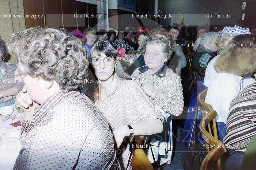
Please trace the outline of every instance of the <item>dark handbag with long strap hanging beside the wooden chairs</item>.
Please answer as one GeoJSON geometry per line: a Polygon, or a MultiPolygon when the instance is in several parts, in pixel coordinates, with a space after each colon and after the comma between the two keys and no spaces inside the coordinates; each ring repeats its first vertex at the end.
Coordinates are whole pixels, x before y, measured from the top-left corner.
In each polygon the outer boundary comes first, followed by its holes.
{"type": "Polygon", "coordinates": [[[181,165],[185,170],[200,170],[203,160],[207,155],[206,149],[195,141],[198,112],[198,105],[196,105],[193,140],[188,151],[181,158],[181,165]]]}

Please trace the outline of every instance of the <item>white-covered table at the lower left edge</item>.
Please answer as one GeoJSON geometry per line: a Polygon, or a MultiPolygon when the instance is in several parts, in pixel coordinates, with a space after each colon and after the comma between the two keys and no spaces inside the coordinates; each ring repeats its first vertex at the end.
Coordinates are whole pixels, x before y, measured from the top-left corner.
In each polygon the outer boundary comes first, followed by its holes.
{"type": "MultiPolygon", "coordinates": [[[[14,107],[14,113],[18,112],[15,109],[15,104],[11,105],[14,107]]],[[[14,166],[21,144],[19,142],[19,135],[21,126],[14,127],[10,123],[18,122],[20,118],[14,120],[8,119],[0,123],[0,169],[11,170],[14,166]]]]}

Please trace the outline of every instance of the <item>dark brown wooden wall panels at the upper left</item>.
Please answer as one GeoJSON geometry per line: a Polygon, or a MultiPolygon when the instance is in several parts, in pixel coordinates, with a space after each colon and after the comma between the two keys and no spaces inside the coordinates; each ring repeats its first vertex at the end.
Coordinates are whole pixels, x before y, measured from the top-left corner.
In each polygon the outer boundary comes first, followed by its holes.
{"type": "Polygon", "coordinates": [[[23,0],[25,15],[37,16],[25,18],[26,28],[35,26],[41,27],[64,27],[68,31],[94,27],[97,29],[97,17],[87,18],[84,14],[97,15],[97,5],[83,3],[71,0],[23,0]],[[83,17],[76,17],[74,14],[80,14],[83,17]],[[43,17],[39,18],[38,15],[43,17]]]}

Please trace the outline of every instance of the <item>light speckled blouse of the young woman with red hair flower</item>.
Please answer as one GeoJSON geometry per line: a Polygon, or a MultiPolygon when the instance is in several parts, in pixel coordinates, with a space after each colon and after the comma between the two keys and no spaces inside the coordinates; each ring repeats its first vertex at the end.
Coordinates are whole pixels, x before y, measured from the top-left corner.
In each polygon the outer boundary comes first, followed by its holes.
{"type": "MultiPolygon", "coordinates": [[[[112,130],[124,124],[134,124],[146,119],[163,121],[161,112],[155,109],[146,94],[133,80],[120,80],[114,76],[102,102],[98,105],[96,92],[92,100],[102,111],[112,130]]],[[[116,153],[122,169],[126,169],[131,153],[129,144],[122,144],[116,153]]]]}

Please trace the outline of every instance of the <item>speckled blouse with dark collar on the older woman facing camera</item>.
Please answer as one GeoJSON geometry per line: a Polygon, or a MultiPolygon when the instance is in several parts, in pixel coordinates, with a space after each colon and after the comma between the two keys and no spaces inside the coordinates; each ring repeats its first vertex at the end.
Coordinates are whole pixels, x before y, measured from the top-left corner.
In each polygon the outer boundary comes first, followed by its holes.
{"type": "Polygon", "coordinates": [[[163,111],[169,112],[174,116],[181,114],[184,106],[181,78],[177,76],[166,64],[163,65],[155,74],[146,78],[147,66],[137,68],[132,74],[139,86],[142,83],[150,82],[155,88],[155,99],[150,96],[147,98],[163,111]]]}

